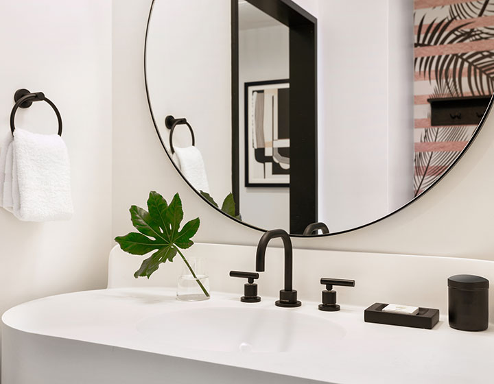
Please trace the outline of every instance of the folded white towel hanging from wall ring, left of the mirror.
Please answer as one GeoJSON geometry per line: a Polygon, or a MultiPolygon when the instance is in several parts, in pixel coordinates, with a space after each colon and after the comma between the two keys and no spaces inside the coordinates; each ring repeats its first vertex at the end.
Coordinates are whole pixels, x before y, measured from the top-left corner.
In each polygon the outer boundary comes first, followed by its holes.
{"type": "Polygon", "coordinates": [[[69,154],[58,134],[14,131],[5,160],[3,207],[23,221],[71,218],[69,154]]]}

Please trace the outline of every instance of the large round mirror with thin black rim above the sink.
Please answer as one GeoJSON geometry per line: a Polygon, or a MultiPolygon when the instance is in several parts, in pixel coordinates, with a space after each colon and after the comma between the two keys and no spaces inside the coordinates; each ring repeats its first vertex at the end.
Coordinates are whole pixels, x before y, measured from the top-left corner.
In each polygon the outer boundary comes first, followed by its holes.
{"type": "Polygon", "coordinates": [[[145,82],[158,139],[205,202],[251,228],[372,224],[436,184],[478,133],[493,16],[492,1],[154,0],[145,82]]]}

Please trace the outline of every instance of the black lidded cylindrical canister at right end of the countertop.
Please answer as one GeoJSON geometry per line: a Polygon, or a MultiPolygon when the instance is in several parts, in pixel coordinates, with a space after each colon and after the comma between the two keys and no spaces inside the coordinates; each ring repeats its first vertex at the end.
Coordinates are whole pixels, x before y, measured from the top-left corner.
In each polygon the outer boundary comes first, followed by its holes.
{"type": "Polygon", "coordinates": [[[449,326],[484,331],[489,326],[489,280],[481,276],[448,278],[449,326]]]}

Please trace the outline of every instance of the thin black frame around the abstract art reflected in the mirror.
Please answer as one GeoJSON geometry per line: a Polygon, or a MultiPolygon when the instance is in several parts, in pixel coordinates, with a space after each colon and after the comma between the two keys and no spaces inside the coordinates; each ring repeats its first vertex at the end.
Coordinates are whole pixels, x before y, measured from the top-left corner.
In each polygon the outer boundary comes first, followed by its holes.
{"type": "Polygon", "coordinates": [[[246,82],[244,83],[244,169],[245,169],[245,187],[268,187],[268,188],[288,188],[290,187],[289,182],[250,182],[250,139],[249,139],[249,130],[250,130],[250,121],[248,114],[248,103],[250,100],[250,88],[258,87],[258,86],[270,86],[274,84],[288,84],[290,88],[290,80],[289,79],[281,79],[281,80],[263,80],[259,82],[246,82]]]}

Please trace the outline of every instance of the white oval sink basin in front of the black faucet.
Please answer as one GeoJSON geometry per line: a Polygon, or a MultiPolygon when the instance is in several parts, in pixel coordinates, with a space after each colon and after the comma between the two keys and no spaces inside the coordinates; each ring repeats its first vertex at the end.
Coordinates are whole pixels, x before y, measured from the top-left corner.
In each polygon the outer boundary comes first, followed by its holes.
{"type": "Polygon", "coordinates": [[[293,310],[201,308],[161,313],[137,324],[154,342],[216,352],[303,352],[325,350],[344,328],[293,310]]]}

